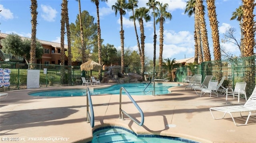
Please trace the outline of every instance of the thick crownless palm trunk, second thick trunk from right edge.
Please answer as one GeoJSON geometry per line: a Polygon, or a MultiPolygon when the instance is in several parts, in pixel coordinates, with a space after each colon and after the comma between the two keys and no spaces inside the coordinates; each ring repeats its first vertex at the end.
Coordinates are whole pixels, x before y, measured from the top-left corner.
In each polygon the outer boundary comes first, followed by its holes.
{"type": "Polygon", "coordinates": [[[220,36],[219,36],[219,30],[218,30],[216,6],[214,4],[215,0],[206,0],[206,2],[207,2],[207,9],[208,9],[208,17],[209,17],[210,26],[212,29],[214,61],[218,61],[218,60],[221,60],[221,53],[220,53],[220,36]]]}

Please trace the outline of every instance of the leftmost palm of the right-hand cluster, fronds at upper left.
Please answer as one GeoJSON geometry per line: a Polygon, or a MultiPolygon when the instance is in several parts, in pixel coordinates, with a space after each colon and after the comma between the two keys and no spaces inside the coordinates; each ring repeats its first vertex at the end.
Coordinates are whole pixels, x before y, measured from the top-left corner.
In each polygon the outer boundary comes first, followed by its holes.
{"type": "MultiPolygon", "coordinates": [[[[185,14],[188,13],[188,17],[191,17],[196,12],[196,0],[189,0],[186,3],[185,14]]],[[[202,46],[201,46],[201,38],[200,38],[200,29],[198,28],[198,15],[195,14],[195,31],[194,31],[194,40],[195,40],[195,59],[194,63],[198,64],[198,57],[200,63],[203,62],[203,53],[202,53],[202,46]]]]}

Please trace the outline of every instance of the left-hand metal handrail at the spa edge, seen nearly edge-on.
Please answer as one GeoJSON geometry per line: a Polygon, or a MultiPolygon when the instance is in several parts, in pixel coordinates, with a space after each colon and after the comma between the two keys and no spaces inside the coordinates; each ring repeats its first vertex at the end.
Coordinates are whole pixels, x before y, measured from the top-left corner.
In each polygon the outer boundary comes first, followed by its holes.
{"type": "Polygon", "coordinates": [[[94,111],[93,111],[93,106],[92,106],[92,98],[91,98],[91,92],[89,88],[86,89],[86,99],[87,99],[87,105],[86,105],[86,118],[87,118],[87,123],[90,123],[91,127],[94,127],[94,111]],[[89,112],[89,106],[90,106],[90,112],[92,116],[90,116],[89,112]]]}

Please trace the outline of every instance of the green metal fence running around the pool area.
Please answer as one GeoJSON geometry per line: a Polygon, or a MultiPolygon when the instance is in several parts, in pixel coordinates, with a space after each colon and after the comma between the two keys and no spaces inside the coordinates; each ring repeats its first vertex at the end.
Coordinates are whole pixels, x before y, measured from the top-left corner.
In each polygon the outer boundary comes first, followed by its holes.
{"type": "MultiPolygon", "coordinates": [[[[236,82],[246,82],[246,92],[249,96],[256,83],[255,56],[230,60],[208,61],[200,65],[178,66],[170,71],[167,67],[145,67],[143,79],[163,79],[182,82],[182,78],[194,74],[213,75],[214,80],[226,76],[225,87],[234,88],[236,82]],[[173,78],[171,78],[173,76],[173,78]]],[[[81,76],[89,76],[80,70],[80,66],[44,65],[0,61],[0,68],[10,69],[10,86],[0,88],[0,92],[27,88],[27,71],[30,68],[40,70],[40,87],[73,86],[81,84],[81,76]],[[80,83],[79,83],[80,82],[80,83]]],[[[125,67],[125,72],[140,73],[141,67],[125,67]]],[[[87,77],[90,78],[90,77],[87,77]]]]}

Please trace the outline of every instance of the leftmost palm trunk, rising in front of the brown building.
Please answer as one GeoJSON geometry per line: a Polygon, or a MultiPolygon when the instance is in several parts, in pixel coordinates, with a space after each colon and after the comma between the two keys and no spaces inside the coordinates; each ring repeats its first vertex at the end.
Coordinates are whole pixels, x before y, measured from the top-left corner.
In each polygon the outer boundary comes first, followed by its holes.
{"type": "Polygon", "coordinates": [[[36,63],[36,24],[37,24],[37,0],[31,0],[31,49],[30,49],[30,63],[32,63],[32,66],[30,67],[33,69],[34,65],[36,63]]]}

